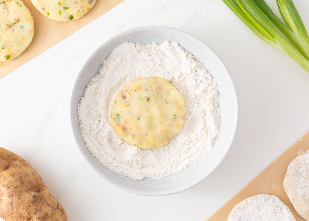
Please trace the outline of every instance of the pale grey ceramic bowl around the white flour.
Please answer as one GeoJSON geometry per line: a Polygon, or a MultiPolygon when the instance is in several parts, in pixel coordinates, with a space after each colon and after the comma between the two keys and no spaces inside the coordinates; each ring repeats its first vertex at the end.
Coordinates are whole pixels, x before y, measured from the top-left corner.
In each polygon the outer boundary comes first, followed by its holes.
{"type": "Polygon", "coordinates": [[[218,55],[200,39],[177,29],[161,26],[145,26],[132,28],[104,42],[86,61],[79,73],[71,100],[71,121],[79,149],[87,161],[110,184],[130,193],[146,196],[162,196],[179,193],[200,183],[209,176],[222,162],[231,147],[238,121],[238,99],[235,85],[229,71],[218,55]],[[214,148],[206,156],[178,173],[172,173],[163,179],[145,178],[142,181],[132,180],[119,175],[99,163],[99,160],[88,151],[79,129],[77,106],[88,82],[99,73],[99,68],[108,55],[122,42],[132,41],[151,44],[154,41],[178,42],[199,60],[217,81],[219,91],[220,132],[214,148]],[[175,179],[171,179],[171,177],[175,179]]]}

